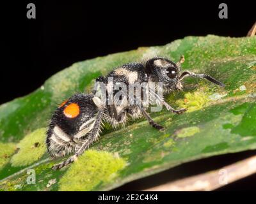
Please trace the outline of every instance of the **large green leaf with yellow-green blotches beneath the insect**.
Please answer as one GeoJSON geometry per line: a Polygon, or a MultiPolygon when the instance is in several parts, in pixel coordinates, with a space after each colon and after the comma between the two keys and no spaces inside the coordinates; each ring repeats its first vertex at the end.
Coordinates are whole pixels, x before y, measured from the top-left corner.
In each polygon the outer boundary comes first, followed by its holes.
{"type": "Polygon", "coordinates": [[[0,188],[108,190],[195,159],[256,149],[255,76],[256,37],[189,36],[161,47],[77,62],[35,92],[0,106],[0,188]],[[154,54],[175,62],[184,55],[183,69],[207,73],[226,87],[188,78],[184,91],[166,96],[168,103],[186,107],[188,112],[173,115],[163,108],[150,113],[165,127],[164,132],[149,126],[145,119],[118,130],[106,125],[100,140],[76,163],[51,170],[60,159],[49,160],[44,132],[56,106],[76,92],[89,92],[95,78],[116,66],[154,54]]]}

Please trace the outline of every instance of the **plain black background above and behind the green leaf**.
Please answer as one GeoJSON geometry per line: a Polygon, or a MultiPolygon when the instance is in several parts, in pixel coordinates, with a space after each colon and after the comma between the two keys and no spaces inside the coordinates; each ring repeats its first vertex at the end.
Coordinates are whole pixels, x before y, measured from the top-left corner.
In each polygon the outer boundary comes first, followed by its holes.
{"type": "MultiPolygon", "coordinates": [[[[223,2],[1,3],[0,103],[29,94],[51,75],[77,61],[165,45],[189,35],[246,36],[256,20],[253,1],[225,1],[228,19],[218,17],[220,3],[223,2]],[[36,19],[26,18],[28,3],[35,3],[36,19]]],[[[255,189],[253,178],[245,180],[244,186],[240,183],[229,189],[255,189]]]]}

